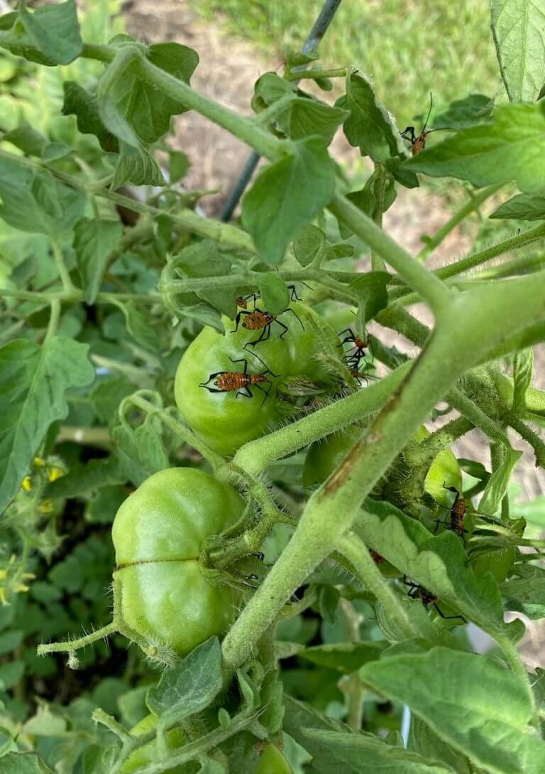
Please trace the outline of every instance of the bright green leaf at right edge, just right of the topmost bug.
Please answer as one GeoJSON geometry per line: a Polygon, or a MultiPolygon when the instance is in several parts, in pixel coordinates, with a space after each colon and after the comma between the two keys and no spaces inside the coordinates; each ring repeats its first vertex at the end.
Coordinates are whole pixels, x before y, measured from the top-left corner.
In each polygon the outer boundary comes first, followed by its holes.
{"type": "Polygon", "coordinates": [[[520,190],[539,190],[545,177],[545,104],[499,105],[492,122],[462,129],[404,166],[476,187],[515,180],[520,190]]]}

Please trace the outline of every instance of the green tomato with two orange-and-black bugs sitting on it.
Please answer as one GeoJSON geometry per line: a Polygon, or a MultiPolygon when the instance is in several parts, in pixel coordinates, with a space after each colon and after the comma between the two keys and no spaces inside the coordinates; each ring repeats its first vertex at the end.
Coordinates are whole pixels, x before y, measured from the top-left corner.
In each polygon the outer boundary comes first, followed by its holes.
{"type": "MultiPolygon", "coordinates": [[[[292,303],[290,308],[301,320],[304,330],[295,316],[286,312],[281,315],[281,321],[288,325],[283,338],[280,337],[281,327],[273,322],[267,341],[244,348],[245,344],[255,341],[262,331],[246,330],[241,320],[237,332],[230,332],[235,324],[224,317],[227,333],[222,336],[211,327],[203,328],[180,361],[174,386],[176,404],[192,430],[219,454],[233,454],[247,441],[278,425],[281,416],[276,404],[276,390],[281,378],[301,375],[315,382],[331,381],[333,378],[315,359],[316,354],[324,350],[316,330],[318,324],[319,330],[324,330],[322,320],[303,303],[292,303]],[[278,378],[267,375],[269,382],[259,385],[261,389],[270,389],[268,397],[255,385],[249,387],[251,398],[244,396],[242,390],[209,392],[206,387],[200,386],[208,382],[211,389],[217,389],[210,380],[211,375],[218,372],[241,373],[244,371],[242,360],[247,362],[247,373],[250,375],[263,374],[267,369],[278,375],[278,378]]],[[[339,345],[339,338],[329,327],[322,335],[326,339],[326,348],[339,345]]]]}

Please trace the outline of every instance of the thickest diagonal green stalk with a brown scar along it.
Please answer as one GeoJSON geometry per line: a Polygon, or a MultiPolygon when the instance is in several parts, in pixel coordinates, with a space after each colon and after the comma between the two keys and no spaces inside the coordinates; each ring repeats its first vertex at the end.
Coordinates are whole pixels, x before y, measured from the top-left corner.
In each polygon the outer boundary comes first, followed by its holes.
{"type": "MultiPolygon", "coordinates": [[[[290,543],[227,634],[223,655],[228,664],[237,666],[247,659],[254,642],[350,528],[363,499],[456,379],[511,327],[545,317],[545,272],[510,285],[509,314],[505,313],[504,290],[495,286],[455,296],[442,311],[404,382],[376,416],[366,437],[309,499],[290,543]],[[497,309],[504,310],[502,317],[494,313],[497,309]],[[465,341],[472,341],[471,351],[465,341]]],[[[243,447],[245,456],[250,456],[255,443],[243,447]]],[[[268,454],[271,452],[269,449],[268,454]]]]}

